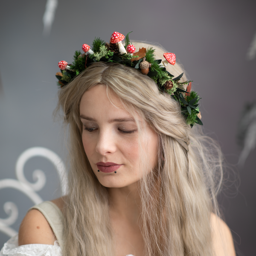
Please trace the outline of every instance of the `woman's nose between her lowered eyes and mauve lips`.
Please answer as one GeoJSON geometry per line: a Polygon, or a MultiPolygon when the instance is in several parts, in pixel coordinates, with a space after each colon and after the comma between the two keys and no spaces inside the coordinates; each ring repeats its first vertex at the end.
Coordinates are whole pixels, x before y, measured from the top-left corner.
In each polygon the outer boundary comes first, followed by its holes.
{"type": "Polygon", "coordinates": [[[101,155],[116,152],[116,138],[110,129],[99,131],[95,150],[101,155]]]}

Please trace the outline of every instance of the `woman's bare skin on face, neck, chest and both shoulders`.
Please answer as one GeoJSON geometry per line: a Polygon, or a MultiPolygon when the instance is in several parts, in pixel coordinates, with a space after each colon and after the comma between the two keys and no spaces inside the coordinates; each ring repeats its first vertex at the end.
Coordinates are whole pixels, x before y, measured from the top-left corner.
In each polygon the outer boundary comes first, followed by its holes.
{"type": "MultiPolygon", "coordinates": [[[[84,151],[99,182],[108,187],[116,255],[142,256],[144,245],[137,224],[140,215],[137,186],[143,173],[139,166],[137,126],[132,120],[113,121],[113,119],[132,119],[133,117],[122,108],[121,102],[115,95],[109,92],[109,97],[111,101],[107,96],[105,85],[96,85],[82,96],[80,115],[83,123],[84,151]],[[116,173],[103,173],[97,171],[96,163],[98,162],[113,162],[122,166],[116,170],[116,173]]],[[[149,126],[143,130],[143,134],[145,134],[143,149],[149,156],[150,165],[154,167],[157,164],[158,137],[149,126]]],[[[61,198],[53,202],[60,209],[63,208],[61,198]]],[[[232,235],[224,221],[212,214],[211,223],[216,255],[236,255],[232,235]]],[[[35,209],[29,211],[20,225],[19,245],[53,244],[55,240],[41,212],[35,209]]]]}

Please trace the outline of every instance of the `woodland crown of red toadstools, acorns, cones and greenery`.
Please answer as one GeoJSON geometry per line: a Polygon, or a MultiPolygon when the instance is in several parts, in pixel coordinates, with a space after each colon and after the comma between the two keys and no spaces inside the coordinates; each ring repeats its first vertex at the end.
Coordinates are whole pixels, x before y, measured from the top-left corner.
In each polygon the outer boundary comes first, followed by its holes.
{"type": "Polygon", "coordinates": [[[76,76],[83,72],[93,62],[117,62],[128,67],[140,70],[143,74],[151,77],[162,93],[168,93],[180,103],[181,112],[191,127],[194,124],[203,125],[201,114],[198,108],[199,96],[191,90],[192,81],[180,82],[183,73],[174,77],[166,70],[168,64],[174,65],[176,56],[174,53],[166,52],[163,54],[164,61],[155,59],[153,47],[148,49],[140,48],[137,52],[129,40],[129,32],[126,37],[118,32],[113,32],[110,43],[106,43],[100,38],[95,38],[92,49],[87,44],[83,44],[82,54],[76,51],[72,64],[67,61],[60,61],[58,67],[61,72],[56,73],[60,87],[65,86],[76,76]],[[122,41],[125,39],[125,46],[122,41]],[[183,85],[187,85],[186,90],[183,85]]]}

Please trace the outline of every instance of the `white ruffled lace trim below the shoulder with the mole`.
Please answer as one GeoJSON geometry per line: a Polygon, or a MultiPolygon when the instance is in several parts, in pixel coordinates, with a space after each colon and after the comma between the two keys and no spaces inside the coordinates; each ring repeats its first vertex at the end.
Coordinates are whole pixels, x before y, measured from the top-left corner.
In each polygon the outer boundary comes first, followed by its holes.
{"type": "Polygon", "coordinates": [[[18,246],[18,235],[9,239],[0,251],[0,256],[62,256],[61,247],[55,241],[50,244],[25,244],[18,246]]]}

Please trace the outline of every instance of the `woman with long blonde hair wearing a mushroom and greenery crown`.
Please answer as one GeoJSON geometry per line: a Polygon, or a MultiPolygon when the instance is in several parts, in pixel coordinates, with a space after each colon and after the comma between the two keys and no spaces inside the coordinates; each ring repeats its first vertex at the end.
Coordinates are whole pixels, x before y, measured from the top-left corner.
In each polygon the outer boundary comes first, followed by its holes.
{"type": "Polygon", "coordinates": [[[0,255],[235,255],[218,218],[221,152],[198,125],[191,128],[201,122],[199,98],[189,99],[191,83],[171,65],[175,56],[160,63],[153,59],[163,58],[160,47],[137,43],[147,52],[129,57],[117,43],[97,42],[92,52],[76,52],[70,67],[59,64],[68,195],[31,209],[19,247],[15,238],[0,255]]]}

